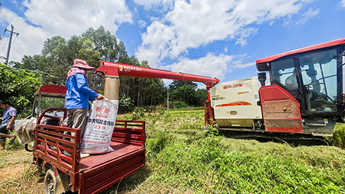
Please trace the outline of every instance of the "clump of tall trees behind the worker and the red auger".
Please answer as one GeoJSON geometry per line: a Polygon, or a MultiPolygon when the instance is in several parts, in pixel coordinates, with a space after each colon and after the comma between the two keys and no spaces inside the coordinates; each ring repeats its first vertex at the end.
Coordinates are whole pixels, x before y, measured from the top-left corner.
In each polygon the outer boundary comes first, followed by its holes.
{"type": "MultiPolygon", "coordinates": [[[[67,72],[75,59],[83,59],[90,66],[98,68],[101,60],[149,68],[148,61],[139,61],[129,56],[122,41],[100,26],[97,30],[88,28],[81,36],[66,40],[61,36],[51,37],[43,43],[40,55],[23,56],[15,68],[35,70],[41,73],[44,84],[64,85],[67,72]]],[[[92,71],[87,72],[89,87],[103,90],[103,80],[92,71]]],[[[141,77],[120,77],[119,95],[126,95],[136,106],[150,106],[165,101],[166,88],[161,79],[141,77]]]]}

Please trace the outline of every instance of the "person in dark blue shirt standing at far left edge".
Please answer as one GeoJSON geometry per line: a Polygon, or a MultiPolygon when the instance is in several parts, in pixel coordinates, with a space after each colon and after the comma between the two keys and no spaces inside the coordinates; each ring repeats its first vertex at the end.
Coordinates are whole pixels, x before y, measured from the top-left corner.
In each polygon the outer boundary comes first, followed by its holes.
{"type": "Polygon", "coordinates": [[[15,135],[8,135],[8,132],[11,128],[14,128],[14,120],[17,117],[17,110],[11,106],[11,103],[8,100],[0,101],[0,106],[5,110],[5,112],[3,112],[3,117],[0,118],[0,120],[2,120],[0,126],[0,150],[4,150],[6,137],[10,139],[9,145],[13,144],[14,139],[16,139],[15,135]]]}

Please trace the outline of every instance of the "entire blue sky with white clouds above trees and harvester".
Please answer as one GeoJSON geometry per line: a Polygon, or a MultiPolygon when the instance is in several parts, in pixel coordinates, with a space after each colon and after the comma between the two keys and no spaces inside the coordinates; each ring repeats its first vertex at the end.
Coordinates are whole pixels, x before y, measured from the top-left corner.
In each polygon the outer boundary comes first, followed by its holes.
{"type": "MultiPolygon", "coordinates": [[[[0,2],[0,32],[10,24],[20,32],[13,61],[39,54],[47,38],[104,26],[152,68],[225,82],[256,76],[257,59],[345,37],[345,0],[0,2]]],[[[1,33],[0,56],[6,57],[9,34],[1,33]]]]}

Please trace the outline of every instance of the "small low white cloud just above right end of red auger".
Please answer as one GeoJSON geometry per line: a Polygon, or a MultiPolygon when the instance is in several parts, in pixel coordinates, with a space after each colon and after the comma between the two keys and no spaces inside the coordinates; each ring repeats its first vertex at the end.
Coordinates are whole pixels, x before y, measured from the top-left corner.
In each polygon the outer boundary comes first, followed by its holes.
{"type": "Polygon", "coordinates": [[[217,77],[218,79],[224,79],[224,76],[228,72],[232,72],[235,68],[246,68],[248,66],[255,65],[255,62],[242,64],[243,56],[232,56],[208,52],[206,57],[199,59],[188,59],[186,57],[180,57],[178,62],[169,66],[164,66],[175,72],[186,72],[194,75],[204,75],[208,77],[217,77]]]}

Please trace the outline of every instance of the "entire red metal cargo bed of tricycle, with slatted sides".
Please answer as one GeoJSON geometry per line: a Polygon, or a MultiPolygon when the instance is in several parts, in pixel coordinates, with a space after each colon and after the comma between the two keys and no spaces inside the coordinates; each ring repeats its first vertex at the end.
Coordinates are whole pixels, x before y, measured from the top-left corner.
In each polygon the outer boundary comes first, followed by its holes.
{"type": "Polygon", "coordinates": [[[55,193],[99,193],[144,167],[144,121],[116,121],[110,143],[115,151],[80,159],[80,129],[41,124],[43,117],[59,119],[46,114],[51,110],[63,111],[62,119],[66,118],[64,108],[43,111],[34,133],[34,162],[39,168],[52,168],[55,193]]]}

